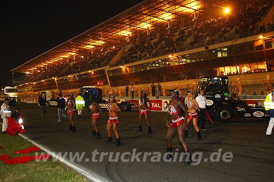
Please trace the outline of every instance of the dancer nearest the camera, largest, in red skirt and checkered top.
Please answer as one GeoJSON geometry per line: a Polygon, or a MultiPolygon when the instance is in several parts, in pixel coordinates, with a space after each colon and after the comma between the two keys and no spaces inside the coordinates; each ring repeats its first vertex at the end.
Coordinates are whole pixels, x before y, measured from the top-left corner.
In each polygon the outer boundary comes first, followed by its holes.
{"type": "Polygon", "coordinates": [[[166,159],[172,159],[172,143],[171,140],[177,131],[177,138],[179,144],[183,147],[184,152],[186,154],[185,162],[182,163],[183,166],[189,165],[192,163],[191,154],[187,147],[187,144],[184,140],[184,130],[186,129],[186,118],[188,116],[186,107],[178,100],[179,92],[177,90],[170,89],[170,97],[172,99],[168,104],[168,113],[165,121],[166,127],[168,127],[166,132],[166,147],[167,147],[167,155],[166,159]],[[185,118],[181,115],[180,109],[184,111],[185,118]],[[172,121],[169,121],[171,117],[172,121]]]}

